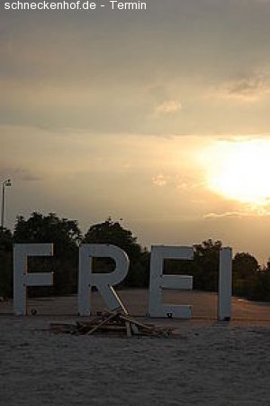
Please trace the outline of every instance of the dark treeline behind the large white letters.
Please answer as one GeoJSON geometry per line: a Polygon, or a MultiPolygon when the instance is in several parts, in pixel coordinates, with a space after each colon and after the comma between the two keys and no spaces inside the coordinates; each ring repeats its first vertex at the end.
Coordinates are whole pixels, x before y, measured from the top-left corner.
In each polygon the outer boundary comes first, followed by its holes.
{"type": "MultiPolygon", "coordinates": [[[[76,220],[59,218],[54,213],[44,216],[34,212],[25,219],[17,217],[14,233],[0,229],[0,296],[13,295],[13,244],[53,243],[53,257],[29,258],[30,272],[54,272],[52,287],[29,288],[30,295],[63,295],[76,293],[78,247],[81,243],[112,244],[121,247],[130,258],[130,271],[121,287],[146,288],[149,279],[150,253],[139,245],[137,237],[119,222],[106,219],[90,226],[82,235],[76,220]]],[[[193,275],[193,288],[217,291],[220,241],[211,239],[193,245],[193,261],[165,261],[165,272],[193,275]]],[[[94,272],[112,272],[110,258],[94,258],[94,272]]],[[[260,267],[257,259],[248,253],[238,253],[232,262],[233,294],[250,300],[270,301],[270,262],[260,267]]]]}

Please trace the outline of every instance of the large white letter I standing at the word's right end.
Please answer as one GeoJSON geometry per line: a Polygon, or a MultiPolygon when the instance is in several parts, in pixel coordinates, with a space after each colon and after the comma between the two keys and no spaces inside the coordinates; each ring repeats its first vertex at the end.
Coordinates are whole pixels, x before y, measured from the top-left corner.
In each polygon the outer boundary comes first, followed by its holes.
{"type": "Polygon", "coordinates": [[[230,319],[231,256],[231,248],[220,249],[218,318],[224,321],[229,321],[230,319]]]}

